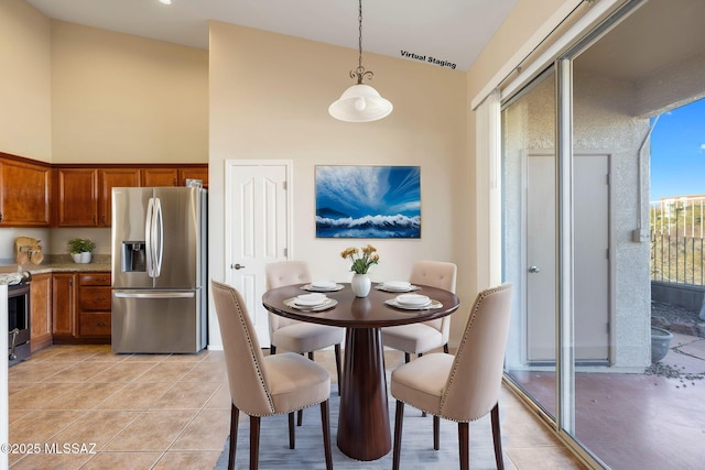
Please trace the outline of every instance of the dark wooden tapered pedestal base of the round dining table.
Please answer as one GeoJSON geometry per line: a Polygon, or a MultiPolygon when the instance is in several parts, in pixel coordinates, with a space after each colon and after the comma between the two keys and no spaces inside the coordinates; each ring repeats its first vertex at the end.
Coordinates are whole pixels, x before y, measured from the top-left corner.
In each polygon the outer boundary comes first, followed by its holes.
{"type": "Polygon", "coordinates": [[[392,446],[383,353],[379,328],[347,328],[338,448],[357,460],[384,457],[392,446]]]}

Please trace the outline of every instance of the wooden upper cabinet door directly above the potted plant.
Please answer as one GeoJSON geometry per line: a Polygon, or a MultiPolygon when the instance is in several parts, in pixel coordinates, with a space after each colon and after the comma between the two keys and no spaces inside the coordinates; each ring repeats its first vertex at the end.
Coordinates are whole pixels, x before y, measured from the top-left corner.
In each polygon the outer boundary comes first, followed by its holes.
{"type": "Polygon", "coordinates": [[[99,227],[98,170],[55,168],[56,225],[59,227],[99,227]]]}

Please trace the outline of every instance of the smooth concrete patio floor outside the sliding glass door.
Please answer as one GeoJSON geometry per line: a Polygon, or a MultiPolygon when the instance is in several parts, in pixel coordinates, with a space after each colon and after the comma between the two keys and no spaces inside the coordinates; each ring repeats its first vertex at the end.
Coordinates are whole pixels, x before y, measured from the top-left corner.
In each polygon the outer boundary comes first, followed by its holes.
{"type": "MultiPolygon", "coordinates": [[[[673,335],[659,374],[576,373],[575,435],[612,469],[704,468],[705,339],[673,335]]],[[[555,374],[512,376],[555,415],[555,374]]]]}

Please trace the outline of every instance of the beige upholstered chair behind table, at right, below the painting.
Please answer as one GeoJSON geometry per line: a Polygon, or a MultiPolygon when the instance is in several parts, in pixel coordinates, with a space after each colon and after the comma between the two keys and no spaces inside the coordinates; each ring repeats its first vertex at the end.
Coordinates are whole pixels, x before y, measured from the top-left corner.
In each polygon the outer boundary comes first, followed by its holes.
{"type": "MultiPolygon", "coordinates": [[[[411,270],[409,281],[412,284],[430,285],[455,293],[457,266],[442,261],[416,261],[411,270]]],[[[451,335],[451,316],[436,320],[412,325],[400,325],[382,328],[382,343],[404,352],[404,362],[411,354],[423,356],[424,352],[443,347],[448,352],[451,335]]]]}

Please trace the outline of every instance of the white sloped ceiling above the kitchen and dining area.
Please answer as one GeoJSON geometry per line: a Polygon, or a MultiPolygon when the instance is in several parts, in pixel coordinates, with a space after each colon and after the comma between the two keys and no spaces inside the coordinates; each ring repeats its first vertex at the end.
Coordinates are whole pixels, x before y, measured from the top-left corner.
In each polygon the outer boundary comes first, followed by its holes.
{"type": "MultiPolygon", "coordinates": [[[[45,15],[208,48],[208,20],[358,47],[355,0],[26,0],[45,15]]],[[[366,0],[362,51],[401,51],[467,70],[518,0],[366,0]]]]}

